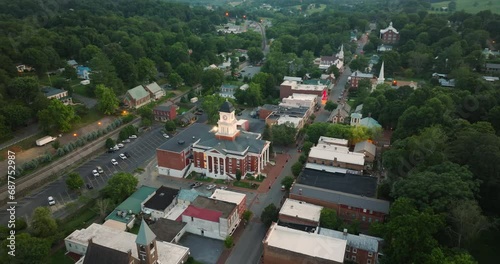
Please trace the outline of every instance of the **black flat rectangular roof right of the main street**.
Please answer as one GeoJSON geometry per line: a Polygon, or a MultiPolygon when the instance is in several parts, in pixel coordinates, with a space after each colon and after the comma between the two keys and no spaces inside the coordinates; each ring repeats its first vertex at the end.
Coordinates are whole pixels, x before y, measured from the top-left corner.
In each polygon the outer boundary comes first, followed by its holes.
{"type": "Polygon", "coordinates": [[[332,173],[305,168],[297,183],[332,191],[375,197],[377,178],[345,173],[332,173]]]}

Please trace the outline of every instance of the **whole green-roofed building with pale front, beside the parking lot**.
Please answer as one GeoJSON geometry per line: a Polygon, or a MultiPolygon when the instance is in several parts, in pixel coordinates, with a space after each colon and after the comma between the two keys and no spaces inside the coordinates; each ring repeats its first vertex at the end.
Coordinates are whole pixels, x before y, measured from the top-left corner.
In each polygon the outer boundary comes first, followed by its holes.
{"type": "Polygon", "coordinates": [[[125,201],[118,205],[107,217],[106,221],[112,220],[124,224],[126,228],[132,228],[135,224],[135,216],[142,212],[142,203],[152,194],[156,188],[141,186],[130,195],[125,201]]]}

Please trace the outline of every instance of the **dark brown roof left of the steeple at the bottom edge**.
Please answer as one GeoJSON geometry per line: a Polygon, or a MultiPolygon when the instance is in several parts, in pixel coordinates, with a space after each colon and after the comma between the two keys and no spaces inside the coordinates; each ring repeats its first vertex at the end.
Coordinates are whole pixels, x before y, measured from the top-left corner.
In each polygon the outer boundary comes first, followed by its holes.
{"type": "MultiPolygon", "coordinates": [[[[132,249],[131,249],[132,250],[132,249]]],[[[129,264],[129,255],[126,252],[89,243],[83,264],[129,264]]]]}

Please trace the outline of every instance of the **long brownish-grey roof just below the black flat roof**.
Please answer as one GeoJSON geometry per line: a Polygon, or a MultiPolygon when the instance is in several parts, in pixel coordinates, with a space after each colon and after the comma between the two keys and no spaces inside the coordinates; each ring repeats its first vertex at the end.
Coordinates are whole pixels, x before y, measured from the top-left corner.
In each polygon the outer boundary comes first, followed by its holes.
{"type": "Polygon", "coordinates": [[[385,214],[389,213],[390,203],[388,201],[332,191],[299,183],[293,185],[293,188],[290,189],[290,194],[301,195],[304,197],[310,197],[321,201],[343,204],[356,208],[373,210],[385,214]]]}

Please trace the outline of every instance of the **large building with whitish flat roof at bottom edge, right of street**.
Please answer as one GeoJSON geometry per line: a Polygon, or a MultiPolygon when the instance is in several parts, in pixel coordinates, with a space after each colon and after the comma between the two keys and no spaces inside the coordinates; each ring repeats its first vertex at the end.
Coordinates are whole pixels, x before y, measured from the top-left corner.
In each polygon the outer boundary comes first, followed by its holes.
{"type": "Polygon", "coordinates": [[[263,262],[272,264],[344,263],[347,242],[273,223],[264,240],[263,262]]]}

